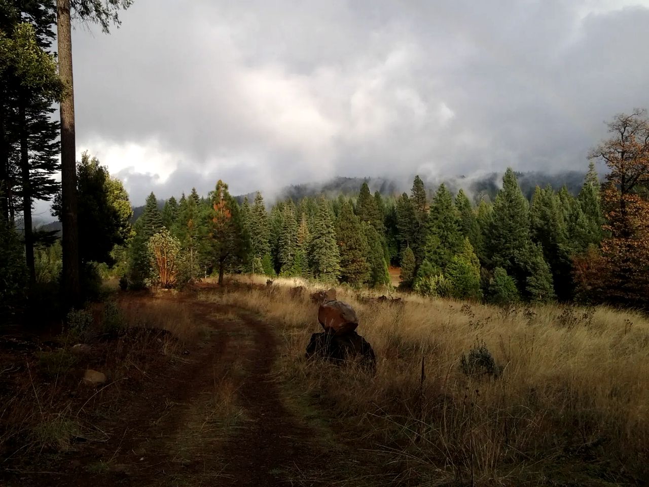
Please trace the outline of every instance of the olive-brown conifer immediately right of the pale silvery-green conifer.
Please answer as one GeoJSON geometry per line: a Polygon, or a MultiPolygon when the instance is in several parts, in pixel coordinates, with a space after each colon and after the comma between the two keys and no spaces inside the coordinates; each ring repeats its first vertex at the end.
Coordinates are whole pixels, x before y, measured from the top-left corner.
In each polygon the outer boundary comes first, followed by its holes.
{"type": "Polygon", "coordinates": [[[336,238],[340,253],[340,279],[349,284],[363,284],[369,278],[368,245],[363,225],[345,202],[336,221],[336,238]]]}

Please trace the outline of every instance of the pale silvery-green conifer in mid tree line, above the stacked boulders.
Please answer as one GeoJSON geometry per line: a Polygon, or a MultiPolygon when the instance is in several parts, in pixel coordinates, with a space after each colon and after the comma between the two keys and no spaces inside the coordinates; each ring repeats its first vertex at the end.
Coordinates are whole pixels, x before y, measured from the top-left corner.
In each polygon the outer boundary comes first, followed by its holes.
{"type": "Polygon", "coordinates": [[[313,275],[322,281],[336,281],[340,275],[340,254],[336,229],[328,203],[321,197],[311,240],[313,275]]]}

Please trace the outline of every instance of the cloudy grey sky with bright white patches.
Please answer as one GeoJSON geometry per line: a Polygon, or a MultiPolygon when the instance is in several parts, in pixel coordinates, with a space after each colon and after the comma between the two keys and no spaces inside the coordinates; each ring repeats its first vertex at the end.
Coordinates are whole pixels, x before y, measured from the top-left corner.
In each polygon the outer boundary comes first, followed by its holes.
{"type": "Polygon", "coordinates": [[[135,0],[77,24],[77,151],[134,205],[217,179],[583,170],[649,108],[649,0],[135,0]]]}

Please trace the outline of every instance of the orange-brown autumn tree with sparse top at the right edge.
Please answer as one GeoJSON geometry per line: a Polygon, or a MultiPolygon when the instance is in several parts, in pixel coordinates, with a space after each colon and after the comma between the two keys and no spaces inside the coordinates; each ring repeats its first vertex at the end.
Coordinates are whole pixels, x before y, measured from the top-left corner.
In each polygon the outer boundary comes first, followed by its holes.
{"type": "Polygon", "coordinates": [[[645,110],[634,110],[618,114],[608,127],[613,136],[590,155],[609,168],[601,194],[608,233],[602,240],[602,297],[644,306],[649,297],[649,120],[645,110]]]}

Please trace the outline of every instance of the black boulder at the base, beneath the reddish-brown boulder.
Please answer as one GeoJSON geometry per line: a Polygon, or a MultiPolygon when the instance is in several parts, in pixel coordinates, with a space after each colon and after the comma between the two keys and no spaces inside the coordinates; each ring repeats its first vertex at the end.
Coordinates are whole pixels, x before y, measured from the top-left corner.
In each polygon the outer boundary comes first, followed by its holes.
{"type": "Polygon", "coordinates": [[[306,347],[306,358],[321,358],[339,365],[356,360],[363,368],[376,371],[376,355],[372,345],[355,331],[343,335],[313,333],[306,347]]]}

